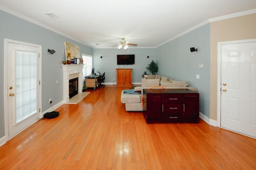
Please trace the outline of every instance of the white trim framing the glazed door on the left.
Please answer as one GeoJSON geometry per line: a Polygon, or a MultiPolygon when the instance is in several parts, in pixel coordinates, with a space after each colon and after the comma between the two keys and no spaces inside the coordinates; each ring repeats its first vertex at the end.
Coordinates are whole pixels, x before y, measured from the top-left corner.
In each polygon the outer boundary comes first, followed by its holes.
{"type": "MultiPolygon", "coordinates": [[[[9,132],[8,132],[8,43],[16,43],[16,44],[22,44],[22,45],[28,45],[28,46],[33,46],[33,47],[38,47],[39,48],[39,64],[38,64],[38,69],[39,69],[39,96],[38,96],[38,107],[40,108],[39,111],[39,117],[42,118],[42,46],[41,45],[36,45],[36,44],[31,44],[31,43],[25,43],[22,41],[16,41],[12,39],[4,39],[4,129],[5,129],[5,142],[7,142],[9,139],[9,132]]],[[[38,83],[39,83],[38,82],[38,83]]],[[[27,127],[26,127],[27,128],[27,127]]],[[[25,128],[25,129],[26,129],[25,128]]],[[[24,129],[23,129],[24,130],[24,129]]],[[[22,131],[23,131],[22,130],[22,131]]],[[[21,131],[20,131],[21,132],[21,131]]],[[[19,133],[20,133],[19,132],[19,133]]],[[[16,134],[17,135],[17,134],[16,134]]],[[[14,135],[15,136],[15,135],[14,135]]],[[[1,143],[0,143],[1,145],[1,143]]]]}

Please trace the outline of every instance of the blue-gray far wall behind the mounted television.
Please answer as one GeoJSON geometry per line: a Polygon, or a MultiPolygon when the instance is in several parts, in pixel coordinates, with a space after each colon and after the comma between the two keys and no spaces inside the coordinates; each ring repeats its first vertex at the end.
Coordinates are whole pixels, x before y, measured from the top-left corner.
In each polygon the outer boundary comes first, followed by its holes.
{"type": "MultiPolygon", "coordinates": [[[[152,61],[156,61],[155,48],[128,48],[124,49],[93,49],[93,67],[95,72],[99,68],[100,72],[106,72],[105,82],[113,83],[116,80],[116,68],[133,68],[132,83],[141,83],[142,74],[146,71],[146,66],[152,61]],[[117,65],[116,55],[134,54],[134,65],[117,65]],[[100,58],[102,56],[102,59],[100,58]],[[147,58],[149,56],[149,58],[147,58]]],[[[116,81],[115,81],[116,82],[116,81]]]]}

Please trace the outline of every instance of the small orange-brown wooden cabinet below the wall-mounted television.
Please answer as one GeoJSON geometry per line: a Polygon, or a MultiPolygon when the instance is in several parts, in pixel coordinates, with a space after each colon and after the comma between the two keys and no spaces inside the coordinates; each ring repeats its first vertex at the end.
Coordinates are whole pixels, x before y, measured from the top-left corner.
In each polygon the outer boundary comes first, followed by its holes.
{"type": "Polygon", "coordinates": [[[116,85],[132,85],[132,68],[116,68],[116,85]]]}

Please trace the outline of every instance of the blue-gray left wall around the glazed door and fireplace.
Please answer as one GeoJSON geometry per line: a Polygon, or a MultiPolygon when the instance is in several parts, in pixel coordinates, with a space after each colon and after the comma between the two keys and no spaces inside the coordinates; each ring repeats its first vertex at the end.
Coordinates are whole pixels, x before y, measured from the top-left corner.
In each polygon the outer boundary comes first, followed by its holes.
{"type": "MultiPolygon", "coordinates": [[[[64,42],[80,47],[82,53],[92,55],[92,48],[43,27],[22,20],[0,10],[0,59],[4,61],[4,39],[42,45],[42,112],[63,100],[62,61],[65,60],[64,42]],[[51,55],[47,49],[54,49],[51,55]],[[56,81],[58,80],[58,83],[56,81]]],[[[4,80],[4,62],[0,62],[0,80],[4,80]]],[[[4,82],[0,81],[0,138],[4,136],[4,82]]]]}

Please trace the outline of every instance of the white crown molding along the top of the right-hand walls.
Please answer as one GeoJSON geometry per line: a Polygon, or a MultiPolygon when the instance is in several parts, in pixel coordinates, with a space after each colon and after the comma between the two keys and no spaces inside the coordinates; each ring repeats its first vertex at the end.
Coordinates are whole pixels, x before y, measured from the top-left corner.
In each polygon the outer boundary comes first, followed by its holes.
{"type": "Polygon", "coordinates": [[[203,25],[206,25],[207,23],[211,23],[211,22],[214,22],[214,21],[220,21],[220,20],[226,20],[226,19],[230,19],[230,18],[235,18],[235,17],[240,17],[240,16],[245,16],[245,15],[250,15],[250,14],[255,14],[256,13],[256,9],[254,10],[248,10],[248,11],[244,11],[244,12],[238,12],[238,13],[235,13],[235,14],[230,14],[230,15],[226,15],[226,16],[221,16],[221,17],[216,17],[216,18],[212,18],[212,19],[209,19],[209,20],[206,20],[202,23],[199,23],[198,25],[172,37],[171,39],[165,41],[164,43],[161,43],[160,45],[156,46],[157,47],[160,47],[161,45],[164,45],[165,43],[168,43],[178,37],[181,37],[182,35],[185,35],[186,33],[189,33],[190,31],[193,31],[194,29],[197,29],[199,27],[202,27],[203,25]]]}

